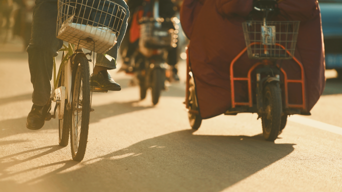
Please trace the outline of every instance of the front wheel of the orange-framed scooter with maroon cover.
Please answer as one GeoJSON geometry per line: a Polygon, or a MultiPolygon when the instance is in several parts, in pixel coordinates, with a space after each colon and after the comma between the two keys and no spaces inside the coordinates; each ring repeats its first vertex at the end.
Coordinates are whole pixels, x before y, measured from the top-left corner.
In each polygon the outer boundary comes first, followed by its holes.
{"type": "Polygon", "coordinates": [[[263,114],[261,116],[263,137],[274,141],[279,134],[282,103],[278,84],[268,83],[263,89],[263,114]]]}

